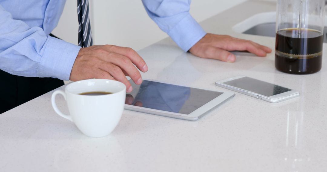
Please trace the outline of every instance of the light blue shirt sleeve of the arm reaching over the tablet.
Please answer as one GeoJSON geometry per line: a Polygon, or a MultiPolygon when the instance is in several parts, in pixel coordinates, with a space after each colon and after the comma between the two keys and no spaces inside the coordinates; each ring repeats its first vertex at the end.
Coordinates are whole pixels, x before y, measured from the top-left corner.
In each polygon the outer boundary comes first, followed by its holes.
{"type": "Polygon", "coordinates": [[[0,69],[25,77],[69,80],[81,47],[14,20],[0,5],[0,69]]]}

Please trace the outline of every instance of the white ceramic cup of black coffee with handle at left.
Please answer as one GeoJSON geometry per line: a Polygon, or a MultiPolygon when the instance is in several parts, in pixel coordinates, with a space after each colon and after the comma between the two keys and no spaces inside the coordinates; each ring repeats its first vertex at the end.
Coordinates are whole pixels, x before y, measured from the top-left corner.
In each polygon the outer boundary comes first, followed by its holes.
{"type": "Polygon", "coordinates": [[[63,118],[75,123],[85,135],[102,137],[109,135],[117,126],[124,110],[126,86],[115,80],[86,79],[70,83],[65,91],[52,94],[54,110],[63,118]],[[87,92],[110,92],[104,95],[81,95],[87,92]],[[70,115],[63,114],[57,107],[55,98],[62,94],[67,101],[70,115]]]}

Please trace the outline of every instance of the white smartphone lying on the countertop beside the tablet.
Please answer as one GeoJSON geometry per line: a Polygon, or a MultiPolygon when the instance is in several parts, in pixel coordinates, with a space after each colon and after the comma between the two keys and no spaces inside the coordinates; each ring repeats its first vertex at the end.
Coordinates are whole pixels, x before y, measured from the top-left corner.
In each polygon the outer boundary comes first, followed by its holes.
{"type": "Polygon", "coordinates": [[[271,103],[281,102],[300,95],[296,90],[246,76],[219,80],[216,85],[271,103]]]}

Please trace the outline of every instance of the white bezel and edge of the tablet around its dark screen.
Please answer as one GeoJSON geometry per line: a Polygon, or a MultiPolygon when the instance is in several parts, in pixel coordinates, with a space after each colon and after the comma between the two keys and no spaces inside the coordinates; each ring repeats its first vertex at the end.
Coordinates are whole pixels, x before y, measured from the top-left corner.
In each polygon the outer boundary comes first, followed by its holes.
{"type": "MultiPolygon", "coordinates": [[[[151,80],[151,79],[146,79],[146,80],[165,83],[165,84],[172,84],[172,83],[166,83],[166,82],[161,82],[161,81],[155,81],[155,80],[151,80]]],[[[176,85],[176,84],[173,84],[173,85],[176,85]]],[[[178,86],[182,86],[182,85],[178,85],[178,86]]],[[[183,87],[187,87],[187,86],[183,86],[183,87]]],[[[195,88],[195,87],[189,87],[189,88],[195,88]]],[[[196,89],[201,89],[201,88],[196,88],[196,89]]],[[[124,108],[127,109],[127,110],[150,113],[150,114],[160,115],[160,116],[165,116],[165,117],[196,121],[201,116],[203,116],[206,112],[210,111],[211,109],[213,109],[215,107],[218,107],[219,105],[221,105],[222,103],[229,100],[230,98],[232,98],[235,95],[235,93],[225,92],[225,91],[220,91],[220,90],[218,90],[218,91],[217,90],[208,90],[208,89],[201,89],[201,90],[221,92],[222,94],[220,94],[219,96],[217,96],[213,100],[207,102],[206,104],[199,107],[198,109],[194,110],[190,114],[175,113],[175,112],[151,109],[151,108],[146,108],[146,107],[138,107],[138,106],[127,105],[127,104],[125,104],[124,108]]]]}

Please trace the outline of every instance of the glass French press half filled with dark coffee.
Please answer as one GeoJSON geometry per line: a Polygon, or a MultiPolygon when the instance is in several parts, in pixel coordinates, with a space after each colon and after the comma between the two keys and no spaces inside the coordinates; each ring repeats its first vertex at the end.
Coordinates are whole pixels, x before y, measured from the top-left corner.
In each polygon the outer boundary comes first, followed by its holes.
{"type": "Polygon", "coordinates": [[[322,63],[325,0],[278,0],[275,66],[290,74],[318,72],[322,63]]]}

